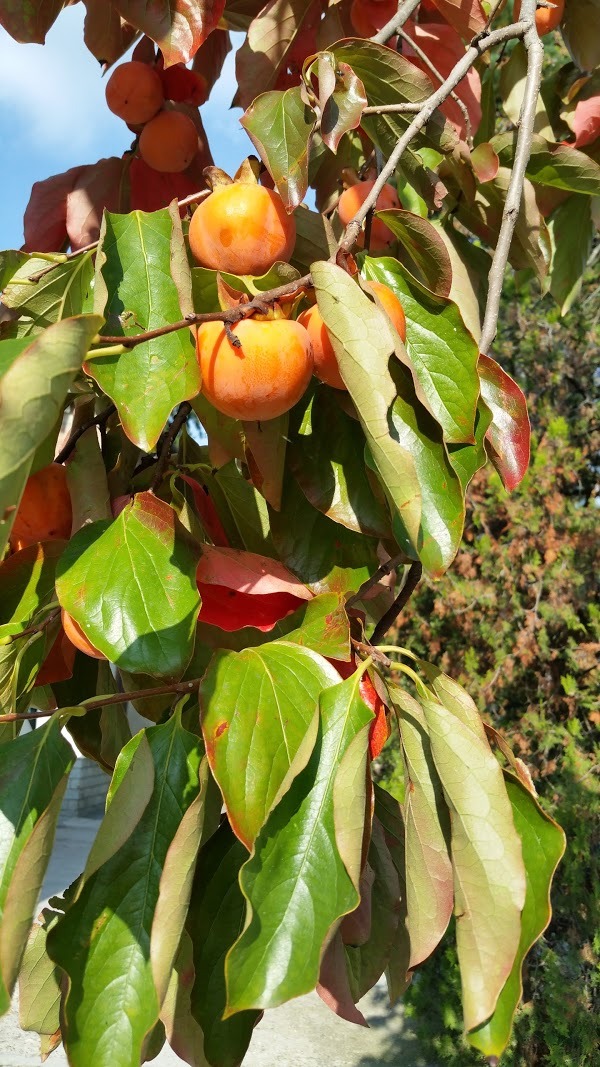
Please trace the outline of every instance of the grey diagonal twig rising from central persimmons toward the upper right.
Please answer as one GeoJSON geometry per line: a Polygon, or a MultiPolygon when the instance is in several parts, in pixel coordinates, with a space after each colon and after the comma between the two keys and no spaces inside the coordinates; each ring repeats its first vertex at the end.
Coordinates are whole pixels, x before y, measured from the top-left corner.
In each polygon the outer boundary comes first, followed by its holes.
{"type": "MultiPolygon", "coordinates": [[[[533,3],[533,0],[527,0],[527,2],[533,3]]],[[[383,186],[394,174],[394,171],[402,157],[402,153],[408,147],[412,139],[416,137],[420,130],[427,125],[436,108],[439,108],[440,105],[444,102],[446,97],[449,96],[452,90],[458,85],[459,81],[462,81],[464,75],[473,66],[475,60],[478,59],[479,55],[483,55],[484,52],[487,52],[490,48],[493,48],[494,45],[501,45],[504,41],[523,37],[525,32],[531,29],[531,26],[532,23],[530,21],[514,22],[510,26],[503,26],[500,30],[492,30],[490,33],[483,33],[480,36],[474,38],[471,47],[467,49],[464,55],[453,67],[445,81],[435,93],[431,94],[431,96],[427,98],[427,100],[424,101],[421,111],[415,115],[410,126],[408,126],[402,133],[400,140],[396,144],[396,147],[385,163],[385,166],[382,169],[381,174],[375,181],[368,196],[365,197],[354,218],[351,219],[346,226],[346,230],[340,241],[340,250],[342,252],[349,252],[356,244],[367,211],[370,211],[374,204],[377,203],[377,198],[383,189],[383,186]]]]}

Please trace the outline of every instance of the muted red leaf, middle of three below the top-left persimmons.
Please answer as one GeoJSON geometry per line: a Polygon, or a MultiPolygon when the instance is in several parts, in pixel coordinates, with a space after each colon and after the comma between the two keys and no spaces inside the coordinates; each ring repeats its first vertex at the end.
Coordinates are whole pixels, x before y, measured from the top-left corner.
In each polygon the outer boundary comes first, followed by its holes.
{"type": "Polygon", "coordinates": [[[110,156],[82,166],[66,198],[66,229],[70,246],[97,241],[102,211],[129,210],[128,157],[110,156]]]}

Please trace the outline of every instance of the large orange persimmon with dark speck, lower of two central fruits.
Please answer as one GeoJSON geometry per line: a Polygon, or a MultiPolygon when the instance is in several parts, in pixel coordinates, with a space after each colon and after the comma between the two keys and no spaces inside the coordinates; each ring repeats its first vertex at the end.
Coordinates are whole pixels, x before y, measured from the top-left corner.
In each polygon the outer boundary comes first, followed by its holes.
{"type": "Polygon", "coordinates": [[[198,331],[202,392],[217,411],[247,421],[283,415],[300,399],[313,373],[309,334],[290,319],[244,319],[230,341],[222,322],[198,331]]]}

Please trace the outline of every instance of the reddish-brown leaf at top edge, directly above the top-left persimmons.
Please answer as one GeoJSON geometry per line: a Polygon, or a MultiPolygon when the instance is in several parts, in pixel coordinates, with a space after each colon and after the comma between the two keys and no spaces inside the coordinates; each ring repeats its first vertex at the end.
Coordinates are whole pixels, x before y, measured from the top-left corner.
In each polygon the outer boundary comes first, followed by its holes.
{"type": "Polygon", "coordinates": [[[167,66],[187,63],[209,33],[216,29],[225,10],[225,0],[113,0],[128,22],[152,37],[160,48],[167,66]]]}

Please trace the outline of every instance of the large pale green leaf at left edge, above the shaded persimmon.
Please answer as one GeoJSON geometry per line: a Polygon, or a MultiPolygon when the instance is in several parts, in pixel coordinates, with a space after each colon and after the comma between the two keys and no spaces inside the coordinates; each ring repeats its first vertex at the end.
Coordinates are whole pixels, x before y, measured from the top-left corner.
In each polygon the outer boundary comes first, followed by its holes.
{"type": "Polygon", "coordinates": [[[35,451],[62,413],[67,391],[101,318],[85,315],[48,327],[29,345],[0,343],[0,553],[35,451]],[[10,346],[10,364],[4,362],[10,346]]]}

